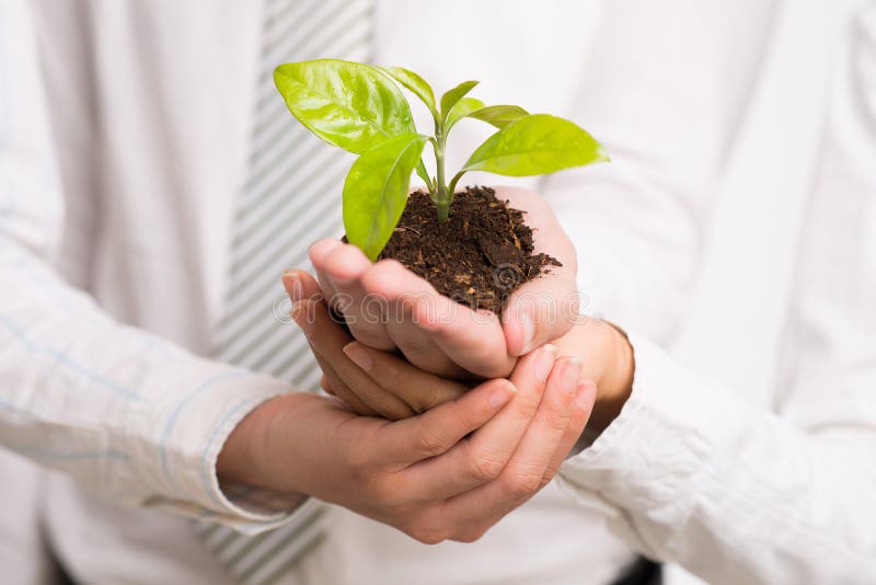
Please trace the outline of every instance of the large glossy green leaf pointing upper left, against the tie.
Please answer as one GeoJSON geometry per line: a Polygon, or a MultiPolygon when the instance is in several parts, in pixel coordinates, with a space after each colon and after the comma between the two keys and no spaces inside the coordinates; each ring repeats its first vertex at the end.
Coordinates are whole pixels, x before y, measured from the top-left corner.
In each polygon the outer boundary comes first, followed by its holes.
{"type": "Polygon", "coordinates": [[[280,65],[274,70],[289,112],[310,131],[361,153],[387,137],[414,133],[401,90],[376,68],[339,59],[280,65]]]}

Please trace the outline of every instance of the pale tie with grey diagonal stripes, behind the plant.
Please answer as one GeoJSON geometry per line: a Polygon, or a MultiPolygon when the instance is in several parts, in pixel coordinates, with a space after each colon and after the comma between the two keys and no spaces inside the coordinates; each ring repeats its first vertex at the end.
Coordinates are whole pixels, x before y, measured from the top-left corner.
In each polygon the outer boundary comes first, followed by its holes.
{"type": "MultiPolygon", "coordinates": [[[[226,316],[214,357],[314,390],[320,370],[307,339],[285,326],[288,299],[280,274],[309,267],[308,246],[342,233],[341,193],[351,159],[296,122],[274,88],[281,62],[320,57],[370,60],[370,0],[265,0],[250,172],[234,218],[226,316]]],[[[255,537],[199,525],[207,547],[240,583],[270,584],[287,575],[325,535],[315,502],[299,520],[255,537]]]]}

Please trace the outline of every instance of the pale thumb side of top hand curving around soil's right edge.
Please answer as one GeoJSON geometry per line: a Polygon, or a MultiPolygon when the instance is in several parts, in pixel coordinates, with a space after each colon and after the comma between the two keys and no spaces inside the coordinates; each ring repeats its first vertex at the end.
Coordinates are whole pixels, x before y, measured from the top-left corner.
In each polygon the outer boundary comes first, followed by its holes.
{"type": "Polygon", "coordinates": [[[577,257],[575,246],[560,227],[553,209],[537,193],[502,187],[497,196],[527,211],[535,253],[558,260],[562,266],[545,272],[515,290],[503,312],[503,329],[511,355],[523,355],[561,337],[578,317],[577,257]]]}

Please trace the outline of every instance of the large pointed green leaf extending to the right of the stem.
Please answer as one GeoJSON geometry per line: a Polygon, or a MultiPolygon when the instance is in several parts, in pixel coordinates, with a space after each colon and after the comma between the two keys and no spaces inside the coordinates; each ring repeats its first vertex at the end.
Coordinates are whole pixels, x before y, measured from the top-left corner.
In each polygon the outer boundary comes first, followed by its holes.
{"type": "Polygon", "coordinates": [[[461,172],[526,176],[607,160],[602,145],[574,123],[548,114],[532,114],[487,138],[461,172]]]}

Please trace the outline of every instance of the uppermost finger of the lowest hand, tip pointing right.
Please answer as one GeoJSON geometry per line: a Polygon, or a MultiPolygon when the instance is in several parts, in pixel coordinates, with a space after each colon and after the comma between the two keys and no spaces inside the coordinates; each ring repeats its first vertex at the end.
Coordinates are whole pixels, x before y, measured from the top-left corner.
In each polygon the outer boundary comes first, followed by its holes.
{"type": "MultiPolygon", "coordinates": [[[[425,414],[388,425],[381,431],[374,451],[387,454],[387,460],[394,462],[390,471],[442,455],[493,420],[516,393],[508,380],[484,382],[425,414]]],[[[423,483],[430,479],[426,473],[420,478],[423,483]]]]}

